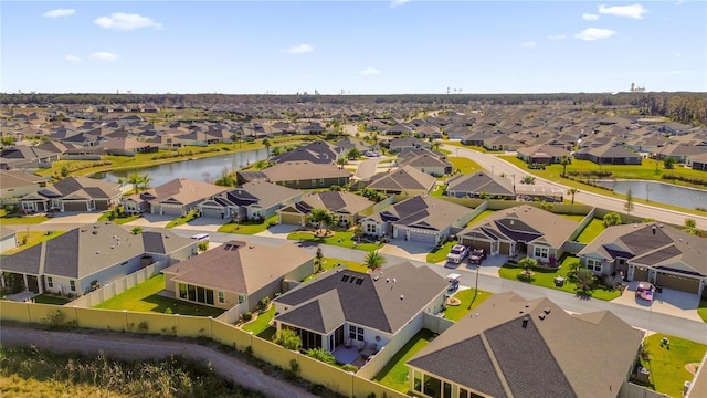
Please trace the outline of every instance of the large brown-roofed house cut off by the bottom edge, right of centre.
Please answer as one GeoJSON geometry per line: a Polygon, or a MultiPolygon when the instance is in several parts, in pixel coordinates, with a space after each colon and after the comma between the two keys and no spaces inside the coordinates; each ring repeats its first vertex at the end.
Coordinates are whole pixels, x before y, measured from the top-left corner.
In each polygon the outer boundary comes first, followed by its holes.
{"type": "Polygon", "coordinates": [[[407,362],[422,397],[621,397],[643,333],[609,311],[495,294],[407,362]],[[520,348],[521,347],[521,348],[520,348]]]}

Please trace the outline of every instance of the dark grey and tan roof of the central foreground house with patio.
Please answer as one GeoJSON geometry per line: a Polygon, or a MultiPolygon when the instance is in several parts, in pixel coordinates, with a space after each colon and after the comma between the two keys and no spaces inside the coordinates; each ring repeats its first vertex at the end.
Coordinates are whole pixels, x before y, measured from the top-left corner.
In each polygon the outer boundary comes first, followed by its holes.
{"type": "Polygon", "coordinates": [[[386,268],[384,274],[339,268],[276,297],[274,302],[293,310],[275,320],[328,333],[341,324],[342,314],[346,322],[395,333],[443,294],[447,285],[446,280],[431,269],[409,262],[386,268]],[[291,314],[292,311],[297,312],[291,314]]]}

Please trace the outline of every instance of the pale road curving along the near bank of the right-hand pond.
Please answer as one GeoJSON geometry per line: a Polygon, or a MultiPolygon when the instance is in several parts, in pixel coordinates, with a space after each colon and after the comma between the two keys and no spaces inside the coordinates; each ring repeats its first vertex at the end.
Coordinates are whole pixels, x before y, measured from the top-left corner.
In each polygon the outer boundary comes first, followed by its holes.
{"type": "MultiPolygon", "coordinates": [[[[479,153],[477,150],[461,148],[453,145],[443,145],[442,148],[446,150],[451,150],[454,156],[466,157],[474,161],[476,161],[479,166],[482,166],[486,171],[492,172],[494,175],[505,174],[506,176],[515,176],[516,186],[520,184],[520,180],[525,176],[532,176],[528,174],[526,170],[516,167],[503,159],[499,159],[497,156],[479,153]]],[[[544,178],[534,176],[536,179],[537,186],[546,186],[552,187],[561,190],[562,192],[567,192],[570,187],[563,186],[561,184],[546,180],[544,178]]],[[[567,195],[566,195],[567,197],[567,195]]],[[[599,193],[582,191],[574,196],[574,201],[578,203],[584,203],[593,207],[599,207],[608,210],[625,212],[624,205],[625,199],[612,198],[599,193]]],[[[639,216],[641,218],[651,218],[657,221],[663,221],[676,226],[682,226],[685,222],[686,218],[692,218],[697,222],[697,228],[701,230],[707,230],[707,217],[705,216],[695,216],[689,213],[684,213],[675,210],[667,210],[654,206],[634,203],[634,209],[631,212],[633,216],[639,216]]]]}

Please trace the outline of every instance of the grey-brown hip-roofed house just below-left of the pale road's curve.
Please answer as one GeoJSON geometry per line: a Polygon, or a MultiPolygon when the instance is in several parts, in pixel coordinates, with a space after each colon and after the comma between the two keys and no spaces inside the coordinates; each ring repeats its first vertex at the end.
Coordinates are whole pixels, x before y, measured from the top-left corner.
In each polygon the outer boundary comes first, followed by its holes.
{"type": "Polygon", "coordinates": [[[504,177],[478,171],[454,176],[446,180],[446,196],[455,198],[500,198],[516,200],[514,184],[504,177]]]}

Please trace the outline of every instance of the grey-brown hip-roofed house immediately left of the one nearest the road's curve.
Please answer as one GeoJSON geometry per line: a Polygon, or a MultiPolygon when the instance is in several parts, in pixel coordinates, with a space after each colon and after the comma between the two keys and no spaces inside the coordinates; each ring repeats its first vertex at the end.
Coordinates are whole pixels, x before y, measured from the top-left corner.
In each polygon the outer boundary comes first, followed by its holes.
{"type": "Polygon", "coordinates": [[[412,166],[403,166],[392,171],[382,171],[371,176],[368,181],[361,181],[367,189],[372,189],[387,195],[426,195],[434,185],[436,178],[422,172],[412,166]]]}

